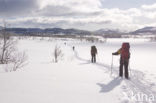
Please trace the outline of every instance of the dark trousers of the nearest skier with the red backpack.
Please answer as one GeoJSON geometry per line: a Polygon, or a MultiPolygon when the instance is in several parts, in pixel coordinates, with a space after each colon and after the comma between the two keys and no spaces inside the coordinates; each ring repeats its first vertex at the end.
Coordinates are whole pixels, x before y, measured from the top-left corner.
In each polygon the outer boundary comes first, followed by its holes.
{"type": "Polygon", "coordinates": [[[124,71],[125,71],[125,78],[129,78],[129,73],[128,73],[128,64],[129,64],[129,60],[122,60],[120,59],[120,70],[119,70],[119,76],[123,76],[123,67],[124,67],[124,71]]]}

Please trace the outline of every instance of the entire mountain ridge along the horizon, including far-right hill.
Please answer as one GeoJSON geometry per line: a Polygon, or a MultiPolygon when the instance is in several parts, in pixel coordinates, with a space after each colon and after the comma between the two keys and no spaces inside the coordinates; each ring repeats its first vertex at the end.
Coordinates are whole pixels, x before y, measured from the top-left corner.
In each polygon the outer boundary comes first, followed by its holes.
{"type": "MultiPolygon", "coordinates": [[[[2,30],[2,26],[0,26],[0,30],[2,30]]],[[[88,30],[80,30],[80,29],[63,29],[63,28],[6,28],[8,32],[13,32],[16,34],[28,34],[28,33],[47,33],[47,34],[69,34],[69,35],[141,35],[141,34],[154,34],[156,35],[156,27],[147,26],[144,28],[137,29],[132,32],[123,32],[118,29],[99,29],[96,31],[88,31],[88,30]]]]}

